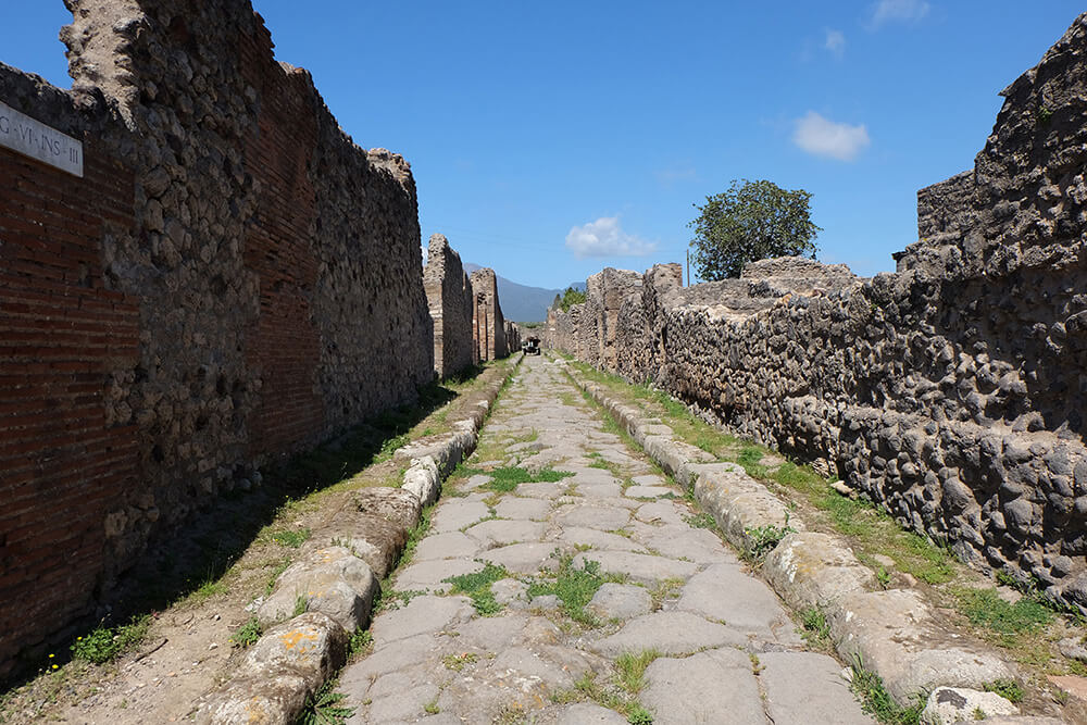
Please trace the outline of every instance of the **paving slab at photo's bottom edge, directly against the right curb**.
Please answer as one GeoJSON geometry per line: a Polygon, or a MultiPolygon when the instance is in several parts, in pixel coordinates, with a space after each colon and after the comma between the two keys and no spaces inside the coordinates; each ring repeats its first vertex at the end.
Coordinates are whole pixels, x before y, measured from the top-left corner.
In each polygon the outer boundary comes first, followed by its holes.
{"type": "Polygon", "coordinates": [[[841,665],[817,652],[762,652],[759,680],[774,725],[873,725],[841,665]]]}

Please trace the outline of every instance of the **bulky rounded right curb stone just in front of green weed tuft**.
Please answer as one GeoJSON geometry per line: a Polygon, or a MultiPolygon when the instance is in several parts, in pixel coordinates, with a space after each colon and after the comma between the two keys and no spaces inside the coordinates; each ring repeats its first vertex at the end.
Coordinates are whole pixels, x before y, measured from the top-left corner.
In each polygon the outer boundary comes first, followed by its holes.
{"type": "Polygon", "coordinates": [[[813,532],[787,535],[762,564],[763,576],[797,611],[828,609],[876,587],[876,577],[840,539],[813,532]]]}

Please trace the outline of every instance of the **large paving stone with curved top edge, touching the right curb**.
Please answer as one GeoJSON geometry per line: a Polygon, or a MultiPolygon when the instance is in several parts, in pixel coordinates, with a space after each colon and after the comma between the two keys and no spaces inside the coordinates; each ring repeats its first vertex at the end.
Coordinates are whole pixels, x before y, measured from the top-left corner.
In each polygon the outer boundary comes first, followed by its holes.
{"type": "Polygon", "coordinates": [[[765,641],[803,642],[771,588],[734,564],[716,564],[690,577],[676,609],[724,622],[765,641]]]}

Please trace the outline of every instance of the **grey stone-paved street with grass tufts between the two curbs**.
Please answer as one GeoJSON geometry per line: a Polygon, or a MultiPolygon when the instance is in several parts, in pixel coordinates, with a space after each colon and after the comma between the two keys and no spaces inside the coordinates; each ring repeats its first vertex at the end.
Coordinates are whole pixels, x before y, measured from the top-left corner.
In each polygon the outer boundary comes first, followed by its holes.
{"type": "Polygon", "coordinates": [[[342,672],[348,722],[871,722],[700,523],[527,358],[342,672]]]}

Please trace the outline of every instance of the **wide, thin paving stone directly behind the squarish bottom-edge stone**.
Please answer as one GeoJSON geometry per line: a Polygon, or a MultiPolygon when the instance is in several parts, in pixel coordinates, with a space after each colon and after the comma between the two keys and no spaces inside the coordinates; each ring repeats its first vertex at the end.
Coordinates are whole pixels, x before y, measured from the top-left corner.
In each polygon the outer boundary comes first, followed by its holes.
{"type": "Polygon", "coordinates": [[[742,634],[690,612],[654,612],[630,620],[614,635],[592,642],[590,648],[609,657],[648,649],[663,654],[688,654],[726,645],[742,647],[747,641],[742,634]]]}

